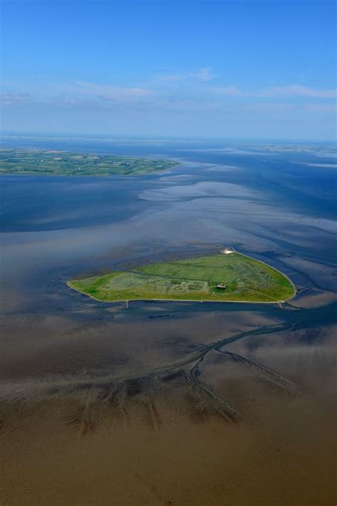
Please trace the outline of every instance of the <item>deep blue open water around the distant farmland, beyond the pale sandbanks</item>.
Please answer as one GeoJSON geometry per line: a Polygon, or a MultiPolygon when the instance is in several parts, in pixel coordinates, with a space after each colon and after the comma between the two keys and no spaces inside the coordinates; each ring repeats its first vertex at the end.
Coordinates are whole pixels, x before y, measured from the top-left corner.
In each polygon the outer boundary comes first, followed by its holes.
{"type": "MultiPolygon", "coordinates": [[[[4,141],[4,147],[17,146],[174,158],[183,162],[182,167],[174,170],[174,175],[188,174],[189,185],[205,180],[215,185],[229,182],[261,192],[262,200],[271,202],[275,208],[284,207],[284,210],[309,217],[336,218],[336,169],[328,167],[336,163],[336,157],[325,155],[324,151],[261,153],[259,146],[255,146],[257,153],[251,148],[240,148],[241,153],[235,153],[237,145],[215,140],[207,143],[186,141],[183,147],[182,142],[172,140],[157,143],[58,138],[4,141]],[[221,149],[228,151],[219,152],[221,149]],[[322,166],[311,166],[311,163],[322,166]],[[210,171],[209,164],[232,168],[225,172],[210,171]]],[[[157,183],[160,187],[161,177],[81,177],[80,180],[53,177],[53,180],[46,180],[39,176],[2,176],[1,182],[0,227],[3,231],[11,231],[82,227],[131,217],[144,210],[139,192],[157,183]],[[64,211],[64,216],[60,211],[64,211]],[[43,223],[38,220],[41,215],[55,216],[55,220],[43,223]]]]}

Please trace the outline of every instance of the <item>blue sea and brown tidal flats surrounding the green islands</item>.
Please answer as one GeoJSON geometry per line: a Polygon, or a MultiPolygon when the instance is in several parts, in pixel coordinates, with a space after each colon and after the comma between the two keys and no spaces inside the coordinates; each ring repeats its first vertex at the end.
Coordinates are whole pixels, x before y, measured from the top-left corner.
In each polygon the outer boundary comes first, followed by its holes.
{"type": "Polygon", "coordinates": [[[328,147],[6,142],[181,164],[1,176],[1,504],[331,505],[336,176],[312,165],[328,147]],[[126,307],[65,284],[224,244],[287,274],[291,304],[126,307]]]}

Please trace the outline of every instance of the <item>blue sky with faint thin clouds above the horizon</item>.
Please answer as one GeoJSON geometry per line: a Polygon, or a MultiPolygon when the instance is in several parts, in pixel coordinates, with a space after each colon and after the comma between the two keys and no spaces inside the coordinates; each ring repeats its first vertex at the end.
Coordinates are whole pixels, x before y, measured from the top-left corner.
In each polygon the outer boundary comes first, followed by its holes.
{"type": "Polygon", "coordinates": [[[1,9],[3,132],[335,138],[335,1],[1,9]]]}

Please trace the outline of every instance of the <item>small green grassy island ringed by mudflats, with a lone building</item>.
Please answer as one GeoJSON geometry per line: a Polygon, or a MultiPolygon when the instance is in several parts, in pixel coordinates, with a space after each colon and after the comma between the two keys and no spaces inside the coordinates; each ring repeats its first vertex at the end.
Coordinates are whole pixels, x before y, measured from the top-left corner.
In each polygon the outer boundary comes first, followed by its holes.
{"type": "Polygon", "coordinates": [[[296,292],[294,284],[281,272],[229,248],[206,257],[73,279],[68,286],[100,301],[169,299],[276,303],[291,299],[296,292]]]}

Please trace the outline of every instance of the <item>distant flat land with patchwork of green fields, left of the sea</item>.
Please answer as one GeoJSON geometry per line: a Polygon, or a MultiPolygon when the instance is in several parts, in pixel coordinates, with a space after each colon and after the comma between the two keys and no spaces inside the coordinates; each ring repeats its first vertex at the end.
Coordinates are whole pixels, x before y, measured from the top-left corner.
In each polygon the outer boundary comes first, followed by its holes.
{"type": "Polygon", "coordinates": [[[85,155],[68,151],[0,149],[0,174],[36,175],[142,175],[179,165],[173,160],[154,160],[113,155],[85,155]]]}

